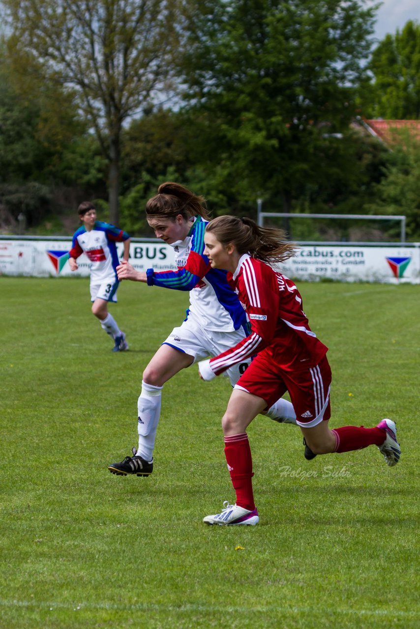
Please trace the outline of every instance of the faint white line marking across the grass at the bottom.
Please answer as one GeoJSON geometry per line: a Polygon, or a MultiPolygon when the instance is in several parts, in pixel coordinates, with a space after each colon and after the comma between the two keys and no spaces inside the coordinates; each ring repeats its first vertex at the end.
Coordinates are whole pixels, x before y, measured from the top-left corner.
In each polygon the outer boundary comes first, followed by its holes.
{"type": "MultiPolygon", "coordinates": [[[[35,607],[35,608],[48,608],[50,611],[55,609],[60,610],[115,610],[115,611],[220,611],[225,612],[245,612],[250,613],[252,611],[270,612],[280,611],[281,613],[318,613],[318,614],[330,614],[330,615],[362,615],[362,616],[399,616],[401,618],[417,618],[416,611],[402,611],[402,610],[346,610],[339,608],[317,608],[317,607],[283,607],[281,605],[265,605],[258,607],[244,607],[244,606],[221,606],[221,605],[199,605],[199,604],[184,604],[184,605],[159,605],[156,603],[136,603],[136,604],[115,604],[115,603],[48,603],[46,601],[8,601],[0,599],[0,606],[3,607],[35,607]]],[[[420,615],[418,615],[420,616],[420,615]]]]}

